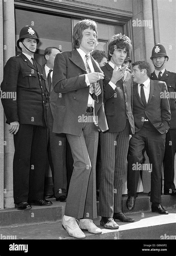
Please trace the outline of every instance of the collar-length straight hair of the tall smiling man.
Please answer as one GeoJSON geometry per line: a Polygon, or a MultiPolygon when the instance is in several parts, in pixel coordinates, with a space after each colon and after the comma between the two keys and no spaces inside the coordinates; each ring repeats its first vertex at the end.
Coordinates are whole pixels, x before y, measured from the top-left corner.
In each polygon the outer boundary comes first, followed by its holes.
{"type": "Polygon", "coordinates": [[[96,35],[96,44],[95,45],[98,44],[98,42],[97,42],[97,37],[98,37],[97,23],[94,20],[84,19],[84,20],[77,22],[76,25],[74,26],[73,50],[76,50],[76,48],[79,48],[82,37],[83,37],[82,32],[87,28],[90,28],[96,32],[97,35],[96,35]]]}

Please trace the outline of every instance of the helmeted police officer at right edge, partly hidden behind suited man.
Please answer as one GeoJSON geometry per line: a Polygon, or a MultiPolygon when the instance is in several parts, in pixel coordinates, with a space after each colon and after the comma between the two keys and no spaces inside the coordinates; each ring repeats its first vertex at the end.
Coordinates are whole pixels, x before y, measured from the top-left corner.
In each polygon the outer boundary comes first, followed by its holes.
{"type": "MultiPolygon", "coordinates": [[[[153,47],[150,59],[154,65],[154,72],[151,73],[151,80],[164,81],[170,96],[171,121],[170,129],[166,133],[166,148],[164,155],[164,195],[176,196],[174,184],[174,157],[176,152],[176,73],[165,69],[169,57],[162,44],[153,47]]],[[[166,97],[166,95],[161,95],[166,97]]]]}

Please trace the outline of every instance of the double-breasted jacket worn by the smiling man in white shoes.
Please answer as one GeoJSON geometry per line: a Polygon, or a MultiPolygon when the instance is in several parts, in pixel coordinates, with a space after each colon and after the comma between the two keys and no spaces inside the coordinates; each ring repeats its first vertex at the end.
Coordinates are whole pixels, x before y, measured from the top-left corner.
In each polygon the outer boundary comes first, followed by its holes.
{"type": "MultiPolygon", "coordinates": [[[[97,62],[91,61],[95,72],[102,72],[97,62]]],[[[85,116],[89,86],[85,82],[84,61],[77,50],[66,51],[56,55],[53,69],[53,88],[59,94],[55,105],[53,132],[80,136],[84,122],[78,119],[85,116]]],[[[94,105],[94,116],[102,131],[108,129],[103,104],[102,80],[99,80],[101,94],[94,105]]]]}

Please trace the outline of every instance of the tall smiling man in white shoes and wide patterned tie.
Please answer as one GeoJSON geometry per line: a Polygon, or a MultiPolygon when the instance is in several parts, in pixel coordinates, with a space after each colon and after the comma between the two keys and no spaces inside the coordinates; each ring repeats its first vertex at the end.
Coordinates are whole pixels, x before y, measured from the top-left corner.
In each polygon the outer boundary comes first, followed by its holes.
{"type": "Polygon", "coordinates": [[[103,105],[104,75],[90,56],[97,44],[96,23],[88,19],[76,23],[73,43],[73,51],[55,58],[53,88],[62,97],[56,101],[53,132],[66,133],[74,159],[62,226],[70,236],[85,238],[79,227],[90,233],[102,232],[90,218],[97,218],[98,129],[108,129],[103,105]],[[80,219],[80,226],[76,219],[80,219]]]}

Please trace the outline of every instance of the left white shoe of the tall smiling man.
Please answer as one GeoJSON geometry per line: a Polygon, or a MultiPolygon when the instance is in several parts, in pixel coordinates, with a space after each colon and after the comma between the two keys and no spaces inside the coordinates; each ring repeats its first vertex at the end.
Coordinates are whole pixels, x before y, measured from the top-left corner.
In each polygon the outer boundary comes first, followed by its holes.
{"type": "Polygon", "coordinates": [[[79,238],[79,239],[85,238],[85,234],[79,228],[78,224],[79,224],[79,221],[76,218],[70,217],[68,219],[68,221],[66,221],[64,216],[63,216],[62,227],[67,231],[69,236],[76,237],[76,238],[79,238]]]}

